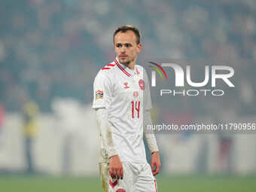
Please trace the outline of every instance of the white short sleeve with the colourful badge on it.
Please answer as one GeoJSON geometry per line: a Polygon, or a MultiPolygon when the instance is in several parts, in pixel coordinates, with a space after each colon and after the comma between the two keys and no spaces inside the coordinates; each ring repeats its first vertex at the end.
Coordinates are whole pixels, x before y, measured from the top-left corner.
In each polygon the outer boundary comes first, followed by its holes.
{"type": "Polygon", "coordinates": [[[108,108],[111,102],[111,82],[107,75],[99,72],[93,83],[92,108],[108,108]]]}

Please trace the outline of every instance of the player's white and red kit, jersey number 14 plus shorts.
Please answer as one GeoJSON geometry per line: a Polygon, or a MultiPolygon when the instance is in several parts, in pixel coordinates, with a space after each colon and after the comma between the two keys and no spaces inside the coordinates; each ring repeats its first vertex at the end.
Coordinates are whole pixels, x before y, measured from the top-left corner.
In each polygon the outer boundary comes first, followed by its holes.
{"type": "Polygon", "coordinates": [[[108,173],[108,152],[101,139],[99,164],[104,190],[157,191],[143,142],[144,114],[151,109],[145,69],[136,65],[131,70],[116,58],[96,75],[93,93],[93,108],[108,110],[108,126],[111,128],[115,150],[123,164],[123,180],[112,180],[108,173]]]}

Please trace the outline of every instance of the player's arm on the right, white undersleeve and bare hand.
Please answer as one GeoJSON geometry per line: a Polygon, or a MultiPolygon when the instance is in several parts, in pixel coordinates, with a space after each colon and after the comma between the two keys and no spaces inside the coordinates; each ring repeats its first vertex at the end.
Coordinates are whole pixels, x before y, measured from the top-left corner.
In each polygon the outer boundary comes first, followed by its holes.
{"type": "Polygon", "coordinates": [[[145,128],[143,133],[145,136],[145,140],[148,144],[148,148],[151,151],[151,169],[152,169],[153,175],[157,175],[157,173],[160,172],[161,163],[160,163],[159,150],[157,146],[157,139],[154,136],[154,131],[146,130],[147,125],[152,124],[151,114],[149,110],[144,111],[144,120],[145,120],[145,128]]]}

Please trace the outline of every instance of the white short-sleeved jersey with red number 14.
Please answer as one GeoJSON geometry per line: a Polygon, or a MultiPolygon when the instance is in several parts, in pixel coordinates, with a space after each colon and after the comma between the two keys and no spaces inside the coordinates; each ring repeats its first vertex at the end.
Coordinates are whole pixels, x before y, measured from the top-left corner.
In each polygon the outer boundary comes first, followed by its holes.
{"type": "MultiPolygon", "coordinates": [[[[143,110],[151,108],[145,69],[136,65],[132,71],[116,58],[96,75],[93,93],[93,108],[108,109],[108,124],[120,160],[145,163],[143,110]]],[[[100,154],[100,162],[104,162],[102,145],[100,154]]]]}

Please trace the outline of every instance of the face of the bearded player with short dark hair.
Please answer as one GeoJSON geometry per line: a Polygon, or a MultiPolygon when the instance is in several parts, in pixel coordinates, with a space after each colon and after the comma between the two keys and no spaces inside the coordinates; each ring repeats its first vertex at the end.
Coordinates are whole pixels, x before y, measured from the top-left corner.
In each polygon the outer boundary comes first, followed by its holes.
{"type": "Polygon", "coordinates": [[[135,62],[137,54],[142,49],[142,44],[136,43],[137,38],[133,31],[118,32],[114,36],[114,52],[123,65],[135,62]]]}

